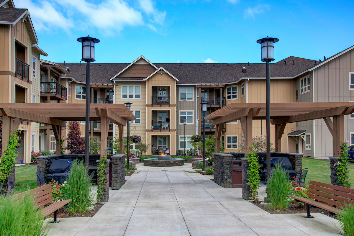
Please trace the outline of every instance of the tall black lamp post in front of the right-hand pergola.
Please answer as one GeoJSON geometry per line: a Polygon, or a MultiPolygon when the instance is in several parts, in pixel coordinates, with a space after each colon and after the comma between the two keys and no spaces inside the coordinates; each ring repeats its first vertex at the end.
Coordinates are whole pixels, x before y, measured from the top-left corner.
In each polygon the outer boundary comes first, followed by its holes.
{"type": "Polygon", "coordinates": [[[267,118],[267,178],[270,177],[270,73],[269,62],[274,61],[274,43],[278,42],[276,38],[263,38],[257,40],[262,45],[262,62],[265,62],[265,91],[266,91],[266,118],[267,118]]]}

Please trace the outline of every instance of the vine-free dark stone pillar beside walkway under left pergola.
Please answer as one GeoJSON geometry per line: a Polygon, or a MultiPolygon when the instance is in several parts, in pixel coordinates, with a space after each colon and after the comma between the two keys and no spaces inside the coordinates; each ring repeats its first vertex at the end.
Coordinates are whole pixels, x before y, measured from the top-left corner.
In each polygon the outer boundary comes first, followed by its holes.
{"type": "Polygon", "coordinates": [[[120,189],[125,183],[125,154],[111,156],[112,160],[112,189],[120,189]]]}

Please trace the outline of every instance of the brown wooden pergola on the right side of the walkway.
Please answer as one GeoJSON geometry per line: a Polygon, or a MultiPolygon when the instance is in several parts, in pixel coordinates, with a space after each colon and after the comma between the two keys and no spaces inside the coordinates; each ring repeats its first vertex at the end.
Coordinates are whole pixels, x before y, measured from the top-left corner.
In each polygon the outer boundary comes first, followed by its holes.
{"type": "MultiPolygon", "coordinates": [[[[339,156],[344,141],[344,115],[352,114],[353,103],[270,103],[270,122],[275,125],[275,151],[281,152],[281,137],[287,123],[324,119],[333,136],[333,156],[339,156]],[[330,119],[333,117],[333,121],[330,119]]],[[[205,116],[216,126],[216,152],[220,152],[222,125],[240,120],[245,151],[252,144],[252,120],[265,120],[265,103],[231,103],[205,116]]]]}

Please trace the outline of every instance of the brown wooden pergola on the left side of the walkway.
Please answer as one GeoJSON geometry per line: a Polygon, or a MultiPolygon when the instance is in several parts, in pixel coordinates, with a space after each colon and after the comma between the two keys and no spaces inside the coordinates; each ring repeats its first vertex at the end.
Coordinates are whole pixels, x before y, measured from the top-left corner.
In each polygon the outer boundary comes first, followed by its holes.
{"type": "MultiPolygon", "coordinates": [[[[56,154],[60,154],[61,127],[66,121],[85,120],[85,104],[65,103],[0,103],[2,116],[2,152],[8,145],[9,134],[22,120],[52,125],[56,140],[56,154]]],[[[135,116],[125,104],[91,104],[90,120],[101,121],[101,157],[106,152],[109,122],[118,125],[120,154],[123,154],[123,126],[135,116]]],[[[88,124],[86,124],[88,125],[88,124]]]]}

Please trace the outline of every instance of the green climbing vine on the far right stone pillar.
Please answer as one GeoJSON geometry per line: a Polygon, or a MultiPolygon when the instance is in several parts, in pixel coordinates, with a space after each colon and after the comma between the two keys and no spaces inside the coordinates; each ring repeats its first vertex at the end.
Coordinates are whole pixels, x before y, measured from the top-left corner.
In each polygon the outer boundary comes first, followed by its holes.
{"type": "Polygon", "coordinates": [[[344,140],[341,145],[341,155],[338,158],[338,162],[335,163],[335,168],[337,170],[337,183],[341,186],[350,188],[349,173],[348,173],[348,140],[344,140]]]}

